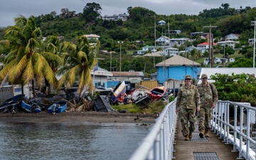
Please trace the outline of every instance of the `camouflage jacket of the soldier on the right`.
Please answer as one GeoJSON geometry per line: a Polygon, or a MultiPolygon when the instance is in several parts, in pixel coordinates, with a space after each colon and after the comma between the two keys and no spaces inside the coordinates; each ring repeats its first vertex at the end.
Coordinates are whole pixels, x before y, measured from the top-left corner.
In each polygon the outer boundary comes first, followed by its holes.
{"type": "Polygon", "coordinates": [[[196,86],[200,94],[201,107],[212,107],[213,103],[218,102],[218,91],[212,83],[207,82],[207,85],[202,83],[196,86]],[[213,90],[210,85],[212,85],[213,90]]]}

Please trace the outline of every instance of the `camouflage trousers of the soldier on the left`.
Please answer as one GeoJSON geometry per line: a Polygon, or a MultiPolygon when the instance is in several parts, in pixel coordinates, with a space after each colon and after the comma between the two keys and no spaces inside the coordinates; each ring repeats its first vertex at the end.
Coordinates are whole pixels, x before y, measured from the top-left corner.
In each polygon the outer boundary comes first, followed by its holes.
{"type": "Polygon", "coordinates": [[[196,110],[193,109],[184,109],[181,108],[179,111],[179,117],[181,119],[181,132],[183,134],[183,137],[186,137],[186,135],[189,134],[189,132],[194,132],[196,129],[196,116],[195,116],[196,110]],[[189,127],[188,127],[189,122],[189,127]]]}

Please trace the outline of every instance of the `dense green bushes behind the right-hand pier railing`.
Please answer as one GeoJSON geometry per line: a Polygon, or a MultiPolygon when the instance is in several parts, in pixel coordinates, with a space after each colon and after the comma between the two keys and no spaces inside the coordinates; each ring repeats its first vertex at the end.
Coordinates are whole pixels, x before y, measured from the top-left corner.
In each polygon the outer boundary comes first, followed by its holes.
{"type": "Polygon", "coordinates": [[[214,85],[218,90],[219,100],[249,102],[252,106],[256,106],[256,80],[254,75],[246,75],[244,73],[222,75],[215,73],[211,78],[215,80],[214,85]]]}

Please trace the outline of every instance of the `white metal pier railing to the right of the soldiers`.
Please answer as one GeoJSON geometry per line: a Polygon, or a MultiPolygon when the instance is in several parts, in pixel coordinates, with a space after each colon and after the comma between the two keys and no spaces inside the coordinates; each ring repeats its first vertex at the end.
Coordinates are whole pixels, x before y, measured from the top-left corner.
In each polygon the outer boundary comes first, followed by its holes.
{"type": "Polygon", "coordinates": [[[255,124],[255,112],[256,107],[251,107],[250,103],[230,101],[218,101],[213,110],[213,132],[223,138],[223,142],[233,144],[233,151],[239,151],[238,159],[256,159],[251,128],[255,124]]]}

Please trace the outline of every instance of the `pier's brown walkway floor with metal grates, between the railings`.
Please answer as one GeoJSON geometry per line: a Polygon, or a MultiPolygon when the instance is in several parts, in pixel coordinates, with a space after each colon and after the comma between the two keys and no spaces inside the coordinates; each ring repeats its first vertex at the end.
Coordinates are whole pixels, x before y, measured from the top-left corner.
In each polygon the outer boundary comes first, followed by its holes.
{"type": "Polygon", "coordinates": [[[192,135],[191,141],[184,141],[181,122],[178,120],[176,144],[174,144],[176,160],[235,160],[239,156],[238,151],[232,151],[232,144],[223,143],[223,139],[212,131],[209,132],[210,137],[200,138],[197,126],[192,135]]]}

